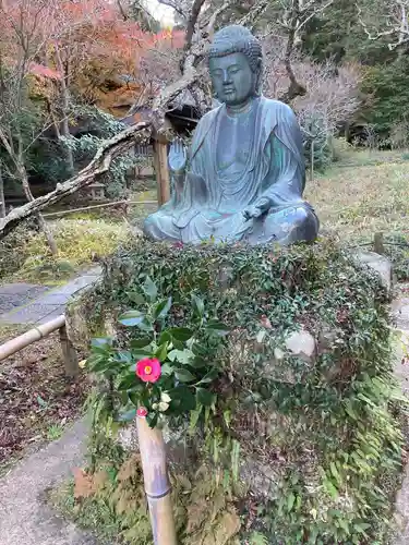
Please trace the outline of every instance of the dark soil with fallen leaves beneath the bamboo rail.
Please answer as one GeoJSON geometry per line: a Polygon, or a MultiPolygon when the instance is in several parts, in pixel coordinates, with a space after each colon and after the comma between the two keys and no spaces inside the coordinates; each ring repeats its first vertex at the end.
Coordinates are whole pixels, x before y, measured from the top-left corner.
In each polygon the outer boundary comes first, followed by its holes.
{"type": "Polygon", "coordinates": [[[0,473],[27,448],[58,438],[87,389],[84,377],[65,378],[56,335],[0,363],[0,473]]]}

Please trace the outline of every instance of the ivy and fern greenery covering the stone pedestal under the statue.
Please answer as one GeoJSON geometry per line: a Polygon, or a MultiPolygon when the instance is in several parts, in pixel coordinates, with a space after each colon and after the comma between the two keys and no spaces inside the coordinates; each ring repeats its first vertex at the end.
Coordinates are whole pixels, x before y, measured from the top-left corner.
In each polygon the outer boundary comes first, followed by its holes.
{"type": "MultiPolygon", "coordinates": [[[[269,544],[386,543],[401,472],[401,401],[377,277],[330,241],[291,249],[139,241],[108,259],[103,284],[83,302],[84,320],[103,327],[122,311],[143,311],[147,276],[160,298],[172,296],[168,325],[190,327],[197,295],[206,316],[231,329],[214,362],[215,410],[196,415],[194,441],[185,435],[195,461],[182,476],[210,464],[234,498],[240,543],[260,534],[269,544]],[[300,328],[317,341],[314,360],[286,349],[300,328]],[[244,489],[234,485],[234,441],[240,468],[250,460],[258,476],[273,471],[267,497],[243,473],[244,489]]],[[[180,419],[179,433],[188,428],[180,419]]],[[[202,528],[212,520],[204,517],[202,528]]],[[[184,522],[180,542],[202,543],[192,535],[184,522]]],[[[228,543],[212,535],[205,543],[228,543]]]]}

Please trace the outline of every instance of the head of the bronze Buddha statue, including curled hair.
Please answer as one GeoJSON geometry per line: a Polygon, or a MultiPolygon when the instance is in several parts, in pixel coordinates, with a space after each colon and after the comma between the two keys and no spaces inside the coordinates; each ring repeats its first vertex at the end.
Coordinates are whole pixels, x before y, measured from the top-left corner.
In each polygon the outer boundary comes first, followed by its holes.
{"type": "Polygon", "coordinates": [[[260,94],[262,46],[244,26],[226,26],[215,34],[208,66],[216,96],[227,106],[240,106],[260,94]]]}

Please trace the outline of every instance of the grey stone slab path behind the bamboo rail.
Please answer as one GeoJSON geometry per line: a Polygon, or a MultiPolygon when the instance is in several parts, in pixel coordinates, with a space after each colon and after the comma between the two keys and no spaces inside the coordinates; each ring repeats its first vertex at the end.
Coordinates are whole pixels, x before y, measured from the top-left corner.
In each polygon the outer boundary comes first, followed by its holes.
{"type": "Polygon", "coordinates": [[[49,289],[29,283],[0,286],[0,323],[45,324],[64,313],[74,293],[95,282],[100,268],[95,267],[64,286],[49,289]]]}

